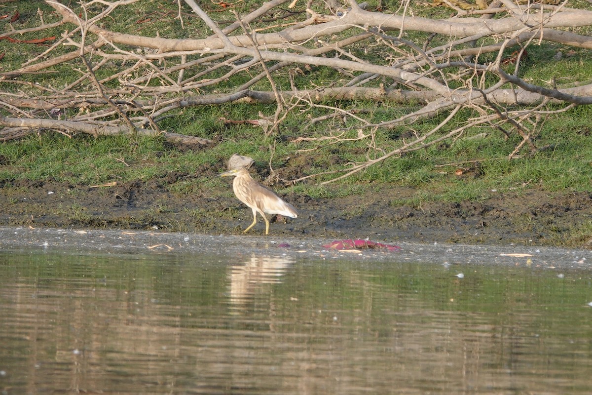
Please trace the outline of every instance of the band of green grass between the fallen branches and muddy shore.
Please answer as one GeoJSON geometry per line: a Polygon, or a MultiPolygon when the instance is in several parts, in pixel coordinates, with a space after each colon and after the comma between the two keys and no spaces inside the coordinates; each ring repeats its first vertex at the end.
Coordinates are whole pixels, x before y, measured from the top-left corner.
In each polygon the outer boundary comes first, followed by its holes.
{"type": "MultiPolygon", "coordinates": [[[[219,108],[215,109],[215,113],[218,111],[219,108]]],[[[294,189],[313,198],[327,198],[361,194],[368,187],[376,188],[381,184],[404,185],[431,191],[433,196],[445,201],[481,200],[488,196],[491,189],[520,189],[535,184],[549,191],[588,190],[592,187],[592,133],[587,113],[590,111],[586,108],[576,108],[568,114],[567,123],[559,118],[548,121],[535,142],[539,147],[552,147],[532,157],[525,155],[519,159],[507,159],[519,140],[510,142],[501,133],[490,130],[490,135],[484,139],[449,142],[447,150],[431,147],[387,159],[339,182],[339,191],[334,191],[334,187],[314,185],[316,181],[330,179],[339,173],[320,176],[294,189]],[[561,133],[554,133],[559,125],[561,133]],[[453,174],[456,168],[470,168],[470,161],[474,160],[480,162],[480,176],[458,178],[453,174]],[[442,192],[452,187],[453,191],[442,192]]],[[[293,117],[286,121],[285,128],[297,127],[298,123],[298,118],[293,117]]],[[[200,121],[195,120],[186,128],[200,129],[199,125],[200,121]]],[[[176,131],[186,133],[184,127],[176,131]]],[[[205,134],[210,138],[218,135],[220,143],[203,152],[183,152],[168,146],[162,139],[152,137],[95,138],[79,134],[70,139],[62,134],[44,133],[0,144],[0,156],[5,162],[0,168],[0,179],[55,179],[82,185],[147,180],[167,172],[192,173],[201,165],[220,165],[221,169],[224,161],[235,152],[252,156],[258,168],[266,168],[268,147],[274,144],[272,166],[280,169],[291,163],[289,159],[286,162],[286,158],[294,156],[296,150],[314,146],[313,143],[297,146],[273,136],[265,137],[260,130],[246,125],[232,125],[205,134]]],[[[381,147],[390,144],[392,142],[387,136],[378,141],[381,147]]],[[[348,162],[362,163],[368,152],[376,154],[368,149],[365,142],[348,142],[320,147],[314,154],[305,155],[303,160],[308,166],[307,171],[323,172],[339,169],[348,162]]],[[[221,185],[220,180],[211,178],[211,175],[201,177],[196,174],[195,180],[176,183],[173,191],[191,194],[215,185],[221,185]]]]}

